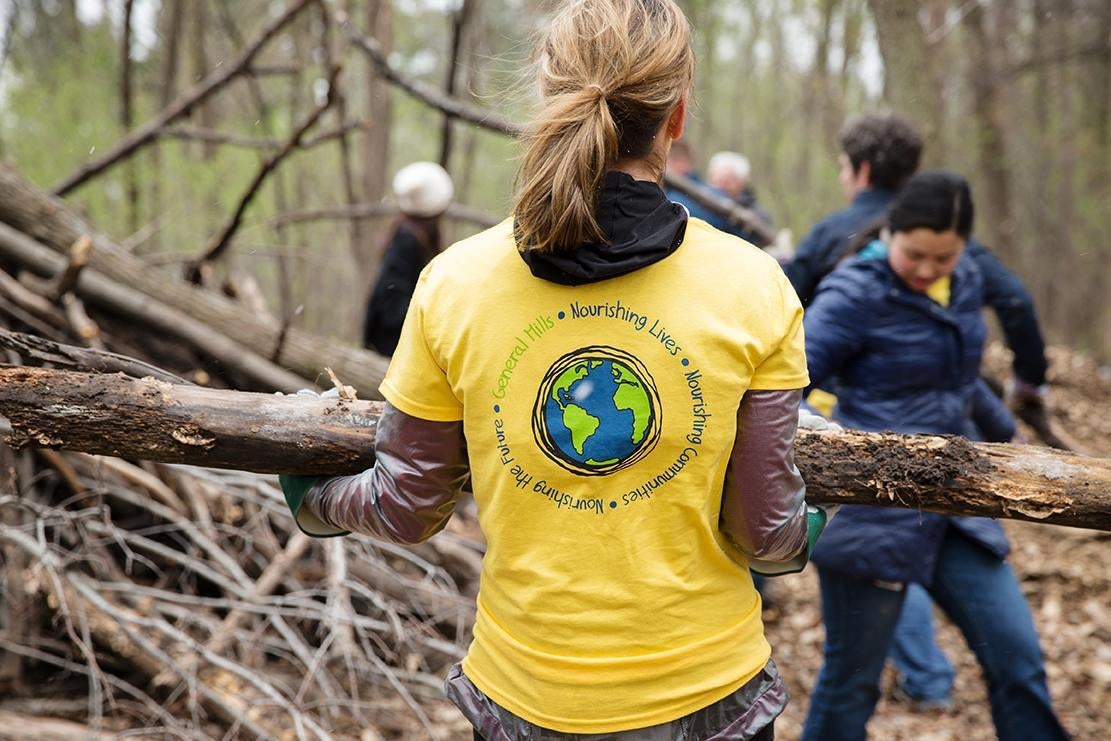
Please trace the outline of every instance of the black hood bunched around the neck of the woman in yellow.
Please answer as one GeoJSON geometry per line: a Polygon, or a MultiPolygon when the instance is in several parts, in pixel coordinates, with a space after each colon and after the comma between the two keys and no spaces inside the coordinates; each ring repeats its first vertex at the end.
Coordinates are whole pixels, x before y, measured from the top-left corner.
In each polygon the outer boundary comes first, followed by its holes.
{"type": "Polygon", "coordinates": [[[687,209],[669,201],[654,182],[624,172],[605,173],[594,217],[604,242],[559,254],[518,244],[532,274],[561,286],[597,283],[659,262],[679,249],[687,232],[687,209]]]}

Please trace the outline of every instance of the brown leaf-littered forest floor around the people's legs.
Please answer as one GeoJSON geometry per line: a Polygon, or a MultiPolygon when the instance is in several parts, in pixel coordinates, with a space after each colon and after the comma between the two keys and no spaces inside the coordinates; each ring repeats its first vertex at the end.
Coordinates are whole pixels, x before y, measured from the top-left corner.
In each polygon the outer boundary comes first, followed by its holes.
{"type": "MultiPolygon", "coordinates": [[[[1049,404],[1054,425],[1082,452],[1111,457],[1111,369],[1064,350],[1050,350],[1049,404]]],[[[1010,356],[992,346],[987,368],[1005,378],[1010,356]]],[[[1028,438],[1034,435],[1025,430],[1028,438]]],[[[1078,741],[1111,738],[1111,533],[1003,523],[1011,540],[1011,567],[1022,582],[1045,653],[1050,693],[1065,728],[1078,741]]],[[[764,611],[772,653],[787,680],[791,703],[775,738],[793,741],[805,720],[821,665],[824,630],[818,578],[812,569],[771,580],[764,611]]],[[[975,657],[944,614],[937,612],[938,640],[957,670],[953,709],[921,713],[883,697],[869,724],[878,741],[980,741],[994,739],[987,693],[975,657]]],[[[450,705],[436,718],[451,738],[468,739],[466,722],[450,705]]],[[[1037,741],[1031,739],[1031,741],[1037,741]]]]}

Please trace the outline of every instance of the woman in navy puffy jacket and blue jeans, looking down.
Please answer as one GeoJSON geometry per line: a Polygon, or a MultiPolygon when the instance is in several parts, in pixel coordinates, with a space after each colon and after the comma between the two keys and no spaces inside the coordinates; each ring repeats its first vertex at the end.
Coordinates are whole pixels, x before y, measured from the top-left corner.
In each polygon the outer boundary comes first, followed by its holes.
{"type": "MultiPolygon", "coordinates": [[[[811,383],[837,379],[847,428],[970,434],[983,395],[981,280],[964,257],[963,178],[922,172],[891,206],[885,238],[822,281],[807,310],[811,383]]],[[[813,554],[824,661],[803,739],[864,739],[905,587],[923,585],[963,632],[1000,739],[1068,738],[1053,712],[1030,609],[992,520],[852,507],[813,554]]]]}

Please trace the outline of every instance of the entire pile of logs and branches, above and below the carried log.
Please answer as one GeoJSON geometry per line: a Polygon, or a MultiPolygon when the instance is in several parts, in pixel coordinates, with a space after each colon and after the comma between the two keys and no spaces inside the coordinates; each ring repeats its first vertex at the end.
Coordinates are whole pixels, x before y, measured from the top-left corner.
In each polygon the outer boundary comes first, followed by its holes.
{"type": "MultiPolygon", "coordinates": [[[[0,193],[4,362],[256,391],[328,362],[373,394],[382,358],[143,264],[2,167],[0,193]]],[[[272,475],[0,444],[0,738],[447,738],[482,553],[466,510],[452,530],[313,541],[272,475]]]]}

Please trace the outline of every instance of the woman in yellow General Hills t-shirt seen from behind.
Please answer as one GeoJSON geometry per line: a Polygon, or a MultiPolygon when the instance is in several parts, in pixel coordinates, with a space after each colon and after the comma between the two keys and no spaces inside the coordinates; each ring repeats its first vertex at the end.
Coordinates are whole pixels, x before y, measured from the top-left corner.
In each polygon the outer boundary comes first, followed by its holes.
{"type": "Polygon", "coordinates": [[[749,569],[802,568],[809,382],[777,262],[660,189],[694,59],[672,0],[574,0],[538,47],[513,217],[422,272],[377,464],[283,477],[314,535],[414,543],[471,478],[487,539],[448,697],[494,739],[770,739],[749,569]]]}

